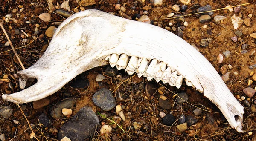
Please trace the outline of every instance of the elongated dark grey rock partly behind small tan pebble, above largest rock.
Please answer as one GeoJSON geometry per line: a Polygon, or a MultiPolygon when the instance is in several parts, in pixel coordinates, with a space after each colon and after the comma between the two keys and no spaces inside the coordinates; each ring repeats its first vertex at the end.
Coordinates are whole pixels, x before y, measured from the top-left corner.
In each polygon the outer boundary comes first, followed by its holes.
{"type": "Polygon", "coordinates": [[[62,109],[63,108],[72,109],[75,104],[76,104],[76,99],[67,99],[65,101],[62,101],[58,103],[56,106],[52,106],[50,115],[52,116],[52,118],[62,118],[64,117],[64,115],[61,112],[62,109]]]}

